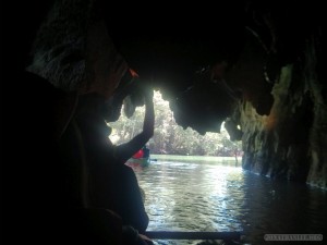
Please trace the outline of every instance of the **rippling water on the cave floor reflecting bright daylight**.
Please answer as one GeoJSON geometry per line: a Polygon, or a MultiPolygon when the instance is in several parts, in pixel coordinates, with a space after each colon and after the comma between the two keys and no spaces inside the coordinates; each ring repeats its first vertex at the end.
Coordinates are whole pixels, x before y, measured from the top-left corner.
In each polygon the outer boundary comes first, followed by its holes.
{"type": "Polygon", "coordinates": [[[242,231],[241,244],[270,244],[265,234],[327,235],[327,193],[305,184],[217,162],[157,161],[135,173],[146,193],[148,231],[242,231]]]}

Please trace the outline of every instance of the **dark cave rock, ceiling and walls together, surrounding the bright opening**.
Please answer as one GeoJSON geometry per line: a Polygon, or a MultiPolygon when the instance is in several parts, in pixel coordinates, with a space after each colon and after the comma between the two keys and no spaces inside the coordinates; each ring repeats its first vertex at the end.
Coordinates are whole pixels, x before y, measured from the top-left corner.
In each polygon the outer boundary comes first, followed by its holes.
{"type": "MultiPolygon", "coordinates": [[[[102,93],[110,99],[131,81],[133,70],[138,83],[160,90],[170,101],[184,128],[219,132],[226,121],[231,139],[243,143],[243,169],[327,187],[320,3],[249,0],[219,1],[218,7],[158,3],[133,10],[101,0],[56,1],[55,8],[50,2],[21,3],[12,11],[20,20],[10,26],[19,106],[11,110],[15,113],[10,122],[22,127],[23,117],[16,112],[27,110],[24,127],[29,130],[24,137],[37,142],[25,143],[24,158],[38,163],[51,158],[48,128],[40,126],[55,121],[59,126],[53,137],[61,137],[76,94],[102,93]],[[51,95],[59,98],[55,119],[44,109],[53,106],[45,79],[63,90],[51,95]]],[[[133,86],[126,96],[136,98],[133,86]]],[[[11,137],[20,134],[21,130],[11,137]]],[[[51,168],[34,168],[62,171],[50,162],[51,168]]],[[[33,172],[29,167],[23,170],[33,172]]],[[[48,183],[47,174],[34,181],[16,173],[15,179],[10,183],[20,193],[22,183],[28,188],[48,183]]],[[[31,195],[15,197],[17,207],[31,195]]]]}

